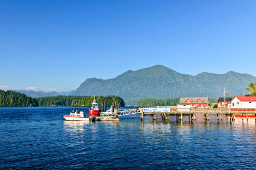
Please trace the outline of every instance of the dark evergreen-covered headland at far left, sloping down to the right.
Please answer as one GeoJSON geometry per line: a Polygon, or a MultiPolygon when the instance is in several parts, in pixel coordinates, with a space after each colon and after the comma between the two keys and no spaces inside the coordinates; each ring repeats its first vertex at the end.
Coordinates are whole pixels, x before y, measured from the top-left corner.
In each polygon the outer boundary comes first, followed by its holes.
{"type": "Polygon", "coordinates": [[[38,101],[19,92],[0,90],[0,106],[38,106],[38,101]]]}

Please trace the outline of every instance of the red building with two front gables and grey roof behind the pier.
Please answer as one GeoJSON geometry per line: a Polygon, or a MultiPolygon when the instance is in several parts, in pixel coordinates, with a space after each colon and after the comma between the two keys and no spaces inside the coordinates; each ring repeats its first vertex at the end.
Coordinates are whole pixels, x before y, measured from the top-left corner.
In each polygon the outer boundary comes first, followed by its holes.
{"type": "Polygon", "coordinates": [[[207,107],[208,98],[180,98],[180,104],[190,104],[192,106],[207,107]]]}

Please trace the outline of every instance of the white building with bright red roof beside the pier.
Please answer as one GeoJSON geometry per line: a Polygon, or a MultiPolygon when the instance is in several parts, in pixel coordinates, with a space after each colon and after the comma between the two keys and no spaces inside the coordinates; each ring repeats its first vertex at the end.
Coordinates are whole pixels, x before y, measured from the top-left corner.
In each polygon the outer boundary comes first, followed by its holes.
{"type": "Polygon", "coordinates": [[[256,108],[255,96],[236,96],[231,100],[229,108],[256,108]]]}

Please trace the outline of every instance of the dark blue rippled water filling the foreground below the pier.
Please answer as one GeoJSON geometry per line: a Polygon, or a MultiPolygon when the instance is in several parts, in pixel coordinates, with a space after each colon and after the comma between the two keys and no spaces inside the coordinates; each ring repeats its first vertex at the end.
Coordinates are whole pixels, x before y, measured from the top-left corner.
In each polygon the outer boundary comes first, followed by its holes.
{"type": "MultiPolygon", "coordinates": [[[[117,122],[64,121],[74,107],[0,108],[0,168],[255,169],[254,118],[194,123],[170,117],[117,122]]],[[[83,108],[88,112],[88,108],[83,108]]]]}

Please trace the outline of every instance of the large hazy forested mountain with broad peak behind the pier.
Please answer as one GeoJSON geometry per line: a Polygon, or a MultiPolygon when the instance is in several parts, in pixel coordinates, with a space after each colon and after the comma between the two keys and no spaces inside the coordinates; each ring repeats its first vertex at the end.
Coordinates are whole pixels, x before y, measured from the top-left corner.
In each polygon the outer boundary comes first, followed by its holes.
{"type": "Polygon", "coordinates": [[[234,71],[225,74],[202,72],[192,76],[156,65],[138,71],[126,71],[107,80],[88,78],[70,94],[116,95],[124,99],[127,105],[134,105],[139,100],[147,98],[218,98],[223,96],[224,88],[230,97],[242,95],[243,90],[246,91],[255,79],[252,75],[234,71]]]}

